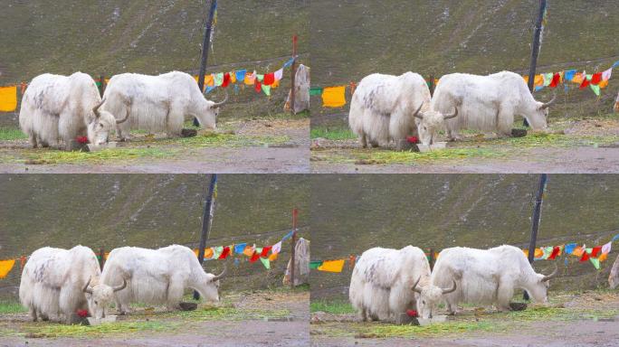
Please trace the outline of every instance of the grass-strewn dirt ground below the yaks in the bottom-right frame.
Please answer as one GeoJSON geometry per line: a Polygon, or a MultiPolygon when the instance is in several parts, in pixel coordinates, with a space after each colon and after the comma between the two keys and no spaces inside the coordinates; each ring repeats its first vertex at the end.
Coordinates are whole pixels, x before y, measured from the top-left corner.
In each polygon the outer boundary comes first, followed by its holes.
{"type": "Polygon", "coordinates": [[[313,313],[310,334],[316,347],[619,345],[619,292],[560,295],[550,306],[555,308],[552,314],[545,314],[542,306],[538,306],[539,314],[535,307],[512,315],[465,309],[440,324],[443,327],[418,332],[415,329],[421,328],[415,326],[359,323],[354,314],[313,313]],[[381,325],[399,329],[389,336],[380,330],[381,325]]]}

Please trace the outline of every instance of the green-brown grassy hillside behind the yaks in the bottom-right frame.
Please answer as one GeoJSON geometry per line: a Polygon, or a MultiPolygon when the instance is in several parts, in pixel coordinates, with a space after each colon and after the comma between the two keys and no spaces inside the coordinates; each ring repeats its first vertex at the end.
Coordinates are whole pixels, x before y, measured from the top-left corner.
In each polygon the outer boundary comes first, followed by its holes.
{"type": "MultiPolygon", "coordinates": [[[[367,174],[311,177],[314,259],[346,258],[372,247],[422,249],[454,246],[528,247],[530,216],[538,175],[367,174]]],[[[593,247],[619,233],[619,177],[550,175],[538,246],[586,242],[593,247]]],[[[557,262],[571,289],[603,284],[617,251],[597,273],[569,258],[557,262]]],[[[541,271],[551,262],[536,263],[541,271]]],[[[350,269],[341,274],[312,272],[312,295],[343,295],[350,269]]]]}

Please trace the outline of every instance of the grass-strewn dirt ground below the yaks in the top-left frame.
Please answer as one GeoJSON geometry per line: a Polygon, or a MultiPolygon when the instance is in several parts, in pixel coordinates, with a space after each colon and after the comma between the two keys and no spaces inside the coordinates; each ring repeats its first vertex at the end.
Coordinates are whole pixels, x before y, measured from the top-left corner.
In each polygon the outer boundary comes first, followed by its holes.
{"type": "Polygon", "coordinates": [[[119,149],[153,149],[163,155],[103,161],[33,160],[33,157],[49,155],[46,151],[54,150],[30,149],[27,140],[0,141],[0,173],[308,173],[309,124],[309,119],[255,119],[227,123],[225,130],[220,131],[233,134],[234,142],[221,145],[184,146],[164,139],[163,135],[156,138],[136,135],[129,143],[119,143],[119,149]]]}

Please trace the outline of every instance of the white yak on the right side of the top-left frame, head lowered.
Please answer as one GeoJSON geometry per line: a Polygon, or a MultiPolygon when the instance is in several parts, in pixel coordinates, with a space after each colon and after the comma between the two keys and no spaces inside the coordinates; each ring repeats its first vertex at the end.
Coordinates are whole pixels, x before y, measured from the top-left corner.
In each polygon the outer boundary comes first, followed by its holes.
{"type": "Polygon", "coordinates": [[[122,73],[110,79],[103,94],[102,109],[129,120],[117,128],[122,141],[129,139],[129,130],[142,129],[151,133],[166,132],[168,137],[181,135],[186,116],[197,118],[200,126],[215,128],[219,108],[224,101],[207,100],[193,77],[172,71],[159,76],[122,73]]]}

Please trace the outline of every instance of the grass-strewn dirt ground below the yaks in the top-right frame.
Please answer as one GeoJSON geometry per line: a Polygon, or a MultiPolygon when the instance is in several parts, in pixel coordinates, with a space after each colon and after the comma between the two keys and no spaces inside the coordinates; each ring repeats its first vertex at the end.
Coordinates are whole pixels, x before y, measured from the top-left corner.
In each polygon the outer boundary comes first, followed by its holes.
{"type": "MultiPolygon", "coordinates": [[[[362,149],[357,140],[315,139],[313,173],[376,174],[606,174],[619,171],[619,119],[582,119],[554,125],[561,137],[510,143],[494,135],[467,135],[443,154],[397,155],[395,150],[362,149]],[[450,150],[460,150],[451,155],[450,150]],[[467,153],[468,151],[468,153],[467,153]],[[468,155],[470,154],[470,155],[468,155]],[[386,159],[385,159],[386,158],[386,159]]],[[[529,135],[530,136],[530,135],[529,135]]],[[[444,139],[443,139],[444,140],[444,139]]]]}

